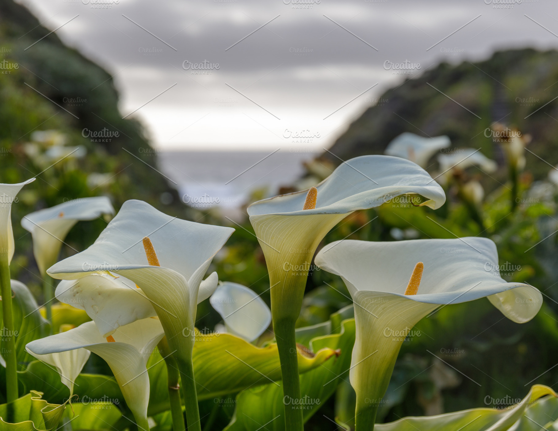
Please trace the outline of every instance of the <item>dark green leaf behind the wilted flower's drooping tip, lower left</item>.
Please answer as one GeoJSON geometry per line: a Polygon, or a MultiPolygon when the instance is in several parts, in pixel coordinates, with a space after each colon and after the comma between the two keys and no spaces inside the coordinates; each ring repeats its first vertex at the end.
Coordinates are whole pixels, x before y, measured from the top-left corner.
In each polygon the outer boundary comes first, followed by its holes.
{"type": "MultiPolygon", "coordinates": [[[[25,371],[18,372],[18,379],[25,391],[41,391],[43,397],[51,403],[62,404],[70,396],[70,390],[62,384],[58,372],[40,361],[30,362],[25,371]]],[[[78,395],[78,401],[84,402],[103,399],[103,396],[124,402],[114,377],[100,374],[80,374],[75,380],[74,394],[78,395]]]]}

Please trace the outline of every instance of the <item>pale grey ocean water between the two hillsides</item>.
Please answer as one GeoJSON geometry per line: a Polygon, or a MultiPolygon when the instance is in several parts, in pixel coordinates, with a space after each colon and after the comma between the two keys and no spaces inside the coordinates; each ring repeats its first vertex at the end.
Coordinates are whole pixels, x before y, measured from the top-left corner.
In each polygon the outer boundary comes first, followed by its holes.
{"type": "Polygon", "coordinates": [[[158,164],[177,183],[172,186],[185,204],[233,209],[256,189],[265,188],[267,196],[276,195],[279,187],[290,186],[302,176],[302,162],[318,156],[315,152],[271,152],[163,151],[158,154],[158,164]]]}

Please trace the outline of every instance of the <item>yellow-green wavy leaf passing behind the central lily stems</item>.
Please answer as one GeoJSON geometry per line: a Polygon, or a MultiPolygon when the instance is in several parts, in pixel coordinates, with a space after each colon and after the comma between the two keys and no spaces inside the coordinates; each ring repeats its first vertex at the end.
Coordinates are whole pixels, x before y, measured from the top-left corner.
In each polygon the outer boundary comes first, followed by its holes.
{"type": "MultiPolygon", "coordinates": [[[[300,373],[315,369],[335,356],[335,348],[324,345],[315,348],[315,354],[299,350],[300,373]]],[[[229,333],[197,333],[193,360],[200,401],[281,379],[275,343],[256,347],[229,333]]],[[[170,408],[166,365],[157,349],[147,362],[147,368],[151,384],[148,414],[154,415],[170,408]]]]}

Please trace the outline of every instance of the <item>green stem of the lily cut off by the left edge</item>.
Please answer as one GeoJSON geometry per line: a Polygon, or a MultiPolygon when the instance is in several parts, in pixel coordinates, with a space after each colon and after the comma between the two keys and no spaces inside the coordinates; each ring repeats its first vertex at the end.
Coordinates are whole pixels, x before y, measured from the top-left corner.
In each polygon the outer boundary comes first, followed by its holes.
{"type": "Polygon", "coordinates": [[[6,399],[9,404],[17,400],[17,359],[16,339],[13,336],[12,286],[7,253],[0,254],[0,287],[3,323],[5,332],[7,332],[7,336],[3,337],[5,340],[3,345],[6,346],[6,350],[4,350],[2,356],[6,360],[6,399]]]}

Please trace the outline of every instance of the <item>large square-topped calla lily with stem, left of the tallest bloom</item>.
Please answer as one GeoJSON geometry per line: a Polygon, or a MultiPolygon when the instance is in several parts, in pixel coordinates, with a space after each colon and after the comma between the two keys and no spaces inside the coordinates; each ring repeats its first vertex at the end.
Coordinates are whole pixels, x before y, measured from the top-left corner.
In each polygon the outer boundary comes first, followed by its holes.
{"type": "MultiPolygon", "coordinates": [[[[217,275],[210,276],[204,285],[201,280],[233,231],[230,227],[177,219],[146,202],[130,200],[124,202],[92,246],[47,270],[52,277],[66,280],[110,271],[142,289],[174,351],[182,377],[186,418],[194,429],[200,427],[192,365],[196,307],[218,283],[217,275]]],[[[109,326],[114,322],[116,319],[109,321],[109,326]]]]}

